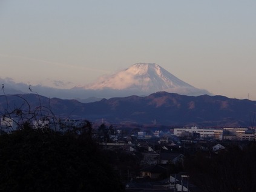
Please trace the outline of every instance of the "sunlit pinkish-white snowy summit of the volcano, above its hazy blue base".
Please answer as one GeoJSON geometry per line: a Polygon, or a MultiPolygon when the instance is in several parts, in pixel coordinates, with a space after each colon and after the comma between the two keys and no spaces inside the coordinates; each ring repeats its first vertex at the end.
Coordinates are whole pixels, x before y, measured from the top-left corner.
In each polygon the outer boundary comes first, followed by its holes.
{"type": "Polygon", "coordinates": [[[85,89],[139,89],[141,91],[163,91],[168,88],[191,87],[156,63],[136,63],[130,68],[108,77],[101,77],[85,89]]]}

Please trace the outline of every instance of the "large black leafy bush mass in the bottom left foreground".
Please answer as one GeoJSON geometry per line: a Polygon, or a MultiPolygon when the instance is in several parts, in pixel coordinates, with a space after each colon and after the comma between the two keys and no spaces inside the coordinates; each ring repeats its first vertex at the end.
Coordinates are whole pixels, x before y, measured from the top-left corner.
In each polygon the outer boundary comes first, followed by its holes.
{"type": "Polygon", "coordinates": [[[91,125],[0,135],[0,191],[123,191],[107,156],[91,139],[91,125]]]}

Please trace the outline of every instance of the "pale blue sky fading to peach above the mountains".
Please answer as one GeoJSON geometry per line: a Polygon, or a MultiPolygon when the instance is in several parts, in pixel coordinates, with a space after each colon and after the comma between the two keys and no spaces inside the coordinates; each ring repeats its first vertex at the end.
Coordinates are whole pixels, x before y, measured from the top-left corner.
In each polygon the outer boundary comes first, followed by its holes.
{"type": "Polygon", "coordinates": [[[256,1],[0,0],[0,78],[86,85],[134,63],[256,100],[256,1]]]}

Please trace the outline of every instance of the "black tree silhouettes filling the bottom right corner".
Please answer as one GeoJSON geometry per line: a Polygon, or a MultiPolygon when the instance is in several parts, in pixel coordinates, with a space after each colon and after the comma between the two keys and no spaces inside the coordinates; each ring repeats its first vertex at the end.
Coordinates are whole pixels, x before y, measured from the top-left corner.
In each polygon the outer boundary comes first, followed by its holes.
{"type": "Polygon", "coordinates": [[[256,191],[256,144],[230,146],[218,154],[186,158],[190,179],[203,191],[256,191]]]}

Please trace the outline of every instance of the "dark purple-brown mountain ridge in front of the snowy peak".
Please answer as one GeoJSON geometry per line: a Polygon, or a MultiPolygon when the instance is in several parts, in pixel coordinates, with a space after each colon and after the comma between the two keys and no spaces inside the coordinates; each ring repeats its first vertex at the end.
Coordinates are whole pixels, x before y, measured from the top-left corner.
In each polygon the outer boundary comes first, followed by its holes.
{"type": "Polygon", "coordinates": [[[156,124],[165,126],[254,127],[256,101],[223,96],[186,96],[156,92],[145,97],[102,99],[91,103],[47,98],[37,94],[1,95],[0,111],[28,110],[45,106],[56,117],[102,120],[111,124],[156,124]],[[8,104],[7,104],[8,101],[8,104]]]}

